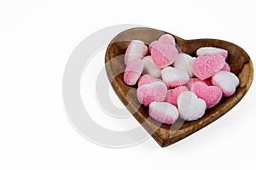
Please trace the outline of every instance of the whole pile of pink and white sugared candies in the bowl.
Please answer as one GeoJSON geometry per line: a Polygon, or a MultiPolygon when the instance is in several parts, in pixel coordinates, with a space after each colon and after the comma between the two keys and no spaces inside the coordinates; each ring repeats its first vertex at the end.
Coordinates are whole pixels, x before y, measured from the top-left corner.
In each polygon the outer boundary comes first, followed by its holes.
{"type": "Polygon", "coordinates": [[[172,124],[178,117],[197,120],[223,96],[235,94],[239,79],[225,62],[228,51],[203,47],[196,55],[178,53],[170,34],[148,47],[133,40],[126,49],[124,81],[137,84],[138,101],[149,106],[149,116],[158,122],[172,124]]]}

